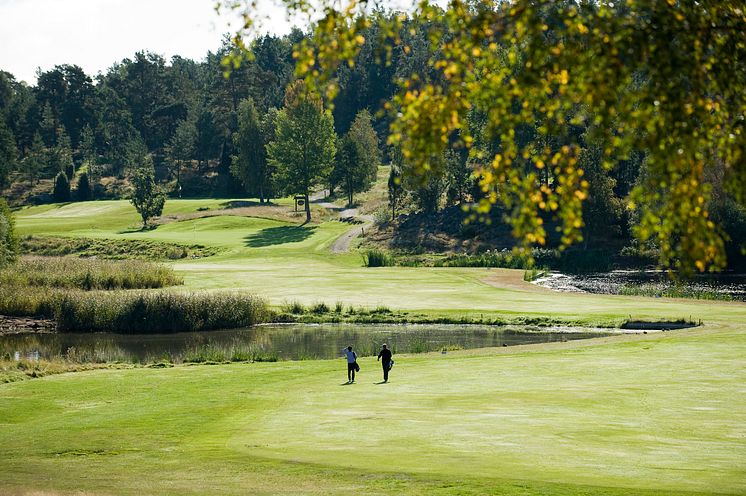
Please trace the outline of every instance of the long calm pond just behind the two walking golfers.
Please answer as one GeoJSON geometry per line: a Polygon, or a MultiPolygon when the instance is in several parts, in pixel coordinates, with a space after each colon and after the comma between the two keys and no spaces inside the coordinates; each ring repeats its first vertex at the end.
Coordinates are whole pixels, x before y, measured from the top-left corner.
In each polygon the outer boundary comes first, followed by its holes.
{"type": "Polygon", "coordinates": [[[568,341],[619,332],[611,329],[489,327],[476,325],[262,325],[230,331],[167,335],[15,334],[0,336],[0,358],[75,362],[152,363],[224,360],[307,360],[568,341]]]}

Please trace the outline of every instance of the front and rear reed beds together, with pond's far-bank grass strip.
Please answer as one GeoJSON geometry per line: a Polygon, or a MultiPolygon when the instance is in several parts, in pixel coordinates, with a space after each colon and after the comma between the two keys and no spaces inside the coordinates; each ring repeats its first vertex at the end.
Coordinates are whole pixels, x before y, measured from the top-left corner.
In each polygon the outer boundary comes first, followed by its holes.
{"type": "MultiPolygon", "coordinates": [[[[538,271],[524,274],[533,279],[538,271]]],[[[337,301],[271,307],[245,291],[168,291],[183,284],[173,268],[140,260],[25,257],[0,270],[0,315],[54,322],[58,332],[158,334],[235,329],[260,323],[481,324],[620,328],[631,319],[568,319],[501,313],[442,314],[337,301]],[[156,290],[156,291],[154,291],[156,290]]],[[[680,322],[691,323],[691,318],[680,322]]],[[[11,326],[12,328],[12,326],[11,326]]]]}

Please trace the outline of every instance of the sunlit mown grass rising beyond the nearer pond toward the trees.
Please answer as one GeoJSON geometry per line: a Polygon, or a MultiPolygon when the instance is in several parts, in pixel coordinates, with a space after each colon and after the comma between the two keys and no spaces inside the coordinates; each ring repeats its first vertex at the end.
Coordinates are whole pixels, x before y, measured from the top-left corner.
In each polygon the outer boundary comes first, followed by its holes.
{"type": "MultiPolygon", "coordinates": [[[[169,200],[164,215],[217,209],[224,200],[169,200]]],[[[220,216],[138,231],[126,201],[26,208],[17,214],[21,234],[152,239],[219,246],[216,257],[175,264],[187,290],[249,289],[273,304],[377,306],[451,314],[533,314],[590,321],[692,317],[713,321],[746,316],[739,303],[566,294],[522,281],[522,271],[471,268],[362,267],[359,254],[330,255],[348,224],[299,227],[254,217],[220,216]]]]}

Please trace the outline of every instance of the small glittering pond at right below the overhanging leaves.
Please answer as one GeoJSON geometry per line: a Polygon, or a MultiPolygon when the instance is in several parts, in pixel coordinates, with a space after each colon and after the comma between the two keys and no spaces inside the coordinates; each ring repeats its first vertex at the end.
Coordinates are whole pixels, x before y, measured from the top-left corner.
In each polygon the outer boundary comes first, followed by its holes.
{"type": "MultiPolygon", "coordinates": [[[[674,283],[665,272],[614,270],[597,274],[562,274],[550,272],[536,284],[555,291],[576,293],[624,294],[625,290],[644,290],[649,296],[665,296],[667,291],[690,297],[746,301],[746,274],[697,275],[691,280],[674,283]]],[[[641,293],[631,293],[641,294],[641,293]]]]}

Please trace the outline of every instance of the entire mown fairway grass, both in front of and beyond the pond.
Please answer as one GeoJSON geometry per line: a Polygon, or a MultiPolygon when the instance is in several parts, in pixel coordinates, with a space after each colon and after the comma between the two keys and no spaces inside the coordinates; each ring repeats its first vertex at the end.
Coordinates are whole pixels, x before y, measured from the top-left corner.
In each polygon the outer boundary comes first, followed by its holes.
{"type": "MultiPolygon", "coordinates": [[[[166,214],[219,203],[169,201],[166,214]]],[[[350,228],[337,221],[217,215],[141,232],[126,202],[90,212],[25,208],[18,231],[220,247],[175,262],[175,290],[274,305],[704,325],[398,355],[387,384],[375,357],[351,385],[341,358],[2,384],[0,494],[746,494],[746,304],[556,293],[522,271],[369,269],[329,253],[350,228]]]]}

